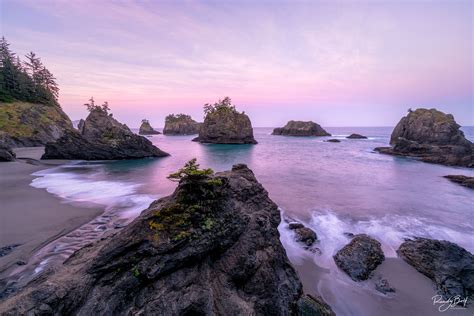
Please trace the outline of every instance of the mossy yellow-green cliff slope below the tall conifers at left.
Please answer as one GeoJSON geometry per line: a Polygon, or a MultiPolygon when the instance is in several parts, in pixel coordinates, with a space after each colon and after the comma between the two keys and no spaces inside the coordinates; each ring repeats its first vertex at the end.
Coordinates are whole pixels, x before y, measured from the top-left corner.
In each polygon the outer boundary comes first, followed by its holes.
{"type": "Polygon", "coordinates": [[[0,131],[8,135],[6,142],[12,147],[44,146],[72,129],[58,105],[0,103],[0,131]]]}

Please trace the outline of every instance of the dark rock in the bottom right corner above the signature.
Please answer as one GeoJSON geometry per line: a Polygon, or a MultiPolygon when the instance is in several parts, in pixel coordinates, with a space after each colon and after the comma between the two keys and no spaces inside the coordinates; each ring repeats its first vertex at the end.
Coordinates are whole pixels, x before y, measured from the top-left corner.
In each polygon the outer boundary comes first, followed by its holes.
{"type": "Polygon", "coordinates": [[[445,298],[474,295],[474,256],[445,240],[416,238],[403,242],[398,255],[430,278],[445,298]]]}

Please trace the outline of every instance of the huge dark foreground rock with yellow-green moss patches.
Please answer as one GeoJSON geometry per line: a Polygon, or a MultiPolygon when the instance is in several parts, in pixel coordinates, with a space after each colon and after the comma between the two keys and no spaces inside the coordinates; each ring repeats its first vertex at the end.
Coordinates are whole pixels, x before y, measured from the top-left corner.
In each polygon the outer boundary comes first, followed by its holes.
{"type": "Polygon", "coordinates": [[[74,253],[0,313],[331,315],[303,295],[279,240],[278,207],[252,171],[191,171],[171,196],[74,253]]]}

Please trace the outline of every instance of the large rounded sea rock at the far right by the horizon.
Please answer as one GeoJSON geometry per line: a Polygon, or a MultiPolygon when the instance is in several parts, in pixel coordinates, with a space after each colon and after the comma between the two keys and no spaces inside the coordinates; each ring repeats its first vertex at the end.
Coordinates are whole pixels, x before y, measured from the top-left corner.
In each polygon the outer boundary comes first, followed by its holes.
{"type": "Polygon", "coordinates": [[[375,150],[425,162],[474,167],[474,144],[459,128],[451,114],[417,109],[403,117],[393,130],[390,138],[393,147],[375,150]]]}

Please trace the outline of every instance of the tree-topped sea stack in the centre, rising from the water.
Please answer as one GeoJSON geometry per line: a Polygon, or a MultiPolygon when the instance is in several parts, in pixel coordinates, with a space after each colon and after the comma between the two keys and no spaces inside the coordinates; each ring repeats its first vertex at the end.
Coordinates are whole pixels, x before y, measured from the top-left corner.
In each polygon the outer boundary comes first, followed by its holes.
{"type": "Polygon", "coordinates": [[[252,123],[245,112],[238,112],[229,97],[204,106],[206,118],[193,139],[210,144],[256,144],[252,123]]]}

